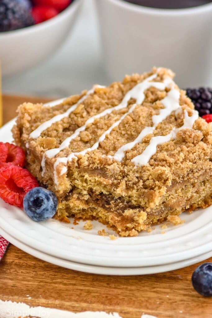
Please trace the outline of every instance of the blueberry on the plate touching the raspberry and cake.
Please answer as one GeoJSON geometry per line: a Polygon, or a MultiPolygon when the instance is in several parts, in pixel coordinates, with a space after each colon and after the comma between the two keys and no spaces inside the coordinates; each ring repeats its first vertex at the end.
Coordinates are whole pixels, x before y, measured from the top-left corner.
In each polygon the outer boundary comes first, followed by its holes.
{"type": "Polygon", "coordinates": [[[44,221],[52,218],[58,206],[54,192],[36,187],[24,197],[24,211],[33,221],[44,221]]]}

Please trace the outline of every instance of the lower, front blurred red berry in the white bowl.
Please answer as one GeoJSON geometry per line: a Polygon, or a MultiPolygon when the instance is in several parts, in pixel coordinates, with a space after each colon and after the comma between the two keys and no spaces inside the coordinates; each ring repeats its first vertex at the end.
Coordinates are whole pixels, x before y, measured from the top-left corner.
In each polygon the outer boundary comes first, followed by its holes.
{"type": "Polygon", "coordinates": [[[32,8],[31,14],[36,24],[49,20],[56,15],[59,11],[47,5],[36,5],[32,8]]]}

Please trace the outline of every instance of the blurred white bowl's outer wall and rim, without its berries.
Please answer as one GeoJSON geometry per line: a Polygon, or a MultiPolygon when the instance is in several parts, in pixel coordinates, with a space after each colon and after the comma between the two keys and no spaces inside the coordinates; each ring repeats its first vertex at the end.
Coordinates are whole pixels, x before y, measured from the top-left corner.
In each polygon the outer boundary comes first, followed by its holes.
{"type": "Polygon", "coordinates": [[[74,0],[58,16],[27,28],[0,33],[0,62],[3,75],[36,66],[54,53],[69,34],[82,0],[74,0]]]}

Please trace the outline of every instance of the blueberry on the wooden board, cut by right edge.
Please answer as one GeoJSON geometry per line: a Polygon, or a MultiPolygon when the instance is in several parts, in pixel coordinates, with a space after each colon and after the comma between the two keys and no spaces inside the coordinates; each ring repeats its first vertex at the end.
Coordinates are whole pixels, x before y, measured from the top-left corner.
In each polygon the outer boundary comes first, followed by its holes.
{"type": "Polygon", "coordinates": [[[212,297],[212,263],[198,266],[191,277],[194,289],[205,297],[212,297]]]}

